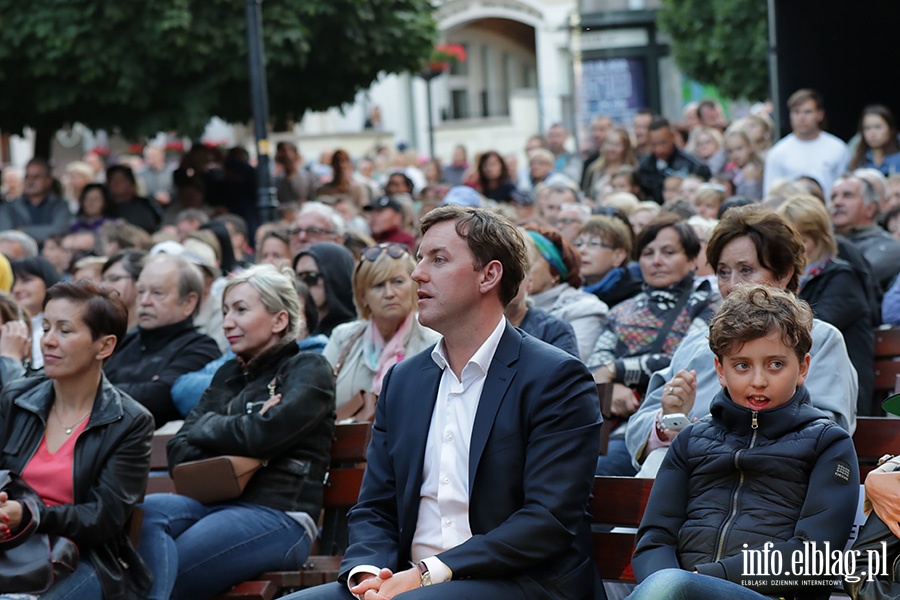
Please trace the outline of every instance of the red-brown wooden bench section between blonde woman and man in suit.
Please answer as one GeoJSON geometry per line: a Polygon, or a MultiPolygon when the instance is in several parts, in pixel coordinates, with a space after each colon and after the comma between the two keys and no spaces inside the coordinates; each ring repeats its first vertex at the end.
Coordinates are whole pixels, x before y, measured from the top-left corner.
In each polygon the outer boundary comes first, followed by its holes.
{"type": "Polygon", "coordinates": [[[331,466],[322,502],[322,537],[319,553],[299,571],[273,571],[245,581],[214,600],[271,600],[289,592],[337,580],[347,547],[347,511],[359,499],[365,473],[366,450],[372,439],[371,423],[337,425],[331,447],[331,466]]]}

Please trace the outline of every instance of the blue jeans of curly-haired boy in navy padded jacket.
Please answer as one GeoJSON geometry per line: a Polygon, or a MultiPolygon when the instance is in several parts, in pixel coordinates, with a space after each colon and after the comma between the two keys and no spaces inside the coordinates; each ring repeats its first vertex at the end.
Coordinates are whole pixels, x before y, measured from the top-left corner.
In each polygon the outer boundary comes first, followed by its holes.
{"type": "Polygon", "coordinates": [[[726,579],[682,569],[663,569],[641,582],[626,600],[765,600],[770,597],[726,579]]]}

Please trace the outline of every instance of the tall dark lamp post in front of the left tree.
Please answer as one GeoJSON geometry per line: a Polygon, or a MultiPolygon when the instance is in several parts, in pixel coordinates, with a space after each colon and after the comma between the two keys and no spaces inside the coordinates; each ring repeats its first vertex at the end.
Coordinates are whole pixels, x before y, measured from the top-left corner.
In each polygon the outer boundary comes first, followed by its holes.
{"type": "Polygon", "coordinates": [[[250,98],[253,104],[253,134],[256,138],[257,208],[262,222],[275,216],[275,188],[269,173],[269,92],[262,39],[262,0],[247,1],[247,55],[250,60],[250,98]]]}

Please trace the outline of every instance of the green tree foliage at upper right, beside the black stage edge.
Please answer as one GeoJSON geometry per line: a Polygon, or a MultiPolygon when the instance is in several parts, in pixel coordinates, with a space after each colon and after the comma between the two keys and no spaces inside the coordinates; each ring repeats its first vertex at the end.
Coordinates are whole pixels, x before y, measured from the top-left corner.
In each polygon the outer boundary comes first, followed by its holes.
{"type": "Polygon", "coordinates": [[[660,28],[685,75],[728,98],[769,96],[764,0],[662,0],[660,28]]]}

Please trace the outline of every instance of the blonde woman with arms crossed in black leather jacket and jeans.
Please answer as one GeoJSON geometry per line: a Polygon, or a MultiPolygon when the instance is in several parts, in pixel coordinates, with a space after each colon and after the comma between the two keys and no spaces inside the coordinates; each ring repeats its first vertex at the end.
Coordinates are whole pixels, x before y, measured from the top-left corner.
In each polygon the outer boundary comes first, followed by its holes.
{"type": "Polygon", "coordinates": [[[303,310],[289,270],[239,273],[222,305],[237,358],[169,442],[169,468],[223,455],[265,463],[233,500],[147,497],[138,550],[154,577],[148,598],[201,600],[264,571],[298,569],[316,535],[334,431],[331,367],[295,343],[303,310]]]}

